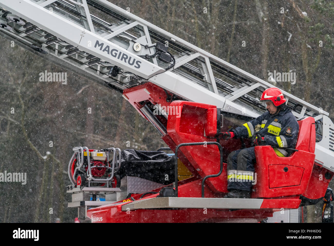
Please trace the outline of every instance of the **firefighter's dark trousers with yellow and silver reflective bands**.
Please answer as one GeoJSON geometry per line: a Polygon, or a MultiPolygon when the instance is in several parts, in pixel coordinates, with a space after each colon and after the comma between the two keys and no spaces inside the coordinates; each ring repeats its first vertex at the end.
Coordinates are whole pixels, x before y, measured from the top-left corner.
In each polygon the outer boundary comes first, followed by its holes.
{"type": "Polygon", "coordinates": [[[232,151],[227,157],[227,190],[251,191],[254,184],[255,147],[232,151]]]}

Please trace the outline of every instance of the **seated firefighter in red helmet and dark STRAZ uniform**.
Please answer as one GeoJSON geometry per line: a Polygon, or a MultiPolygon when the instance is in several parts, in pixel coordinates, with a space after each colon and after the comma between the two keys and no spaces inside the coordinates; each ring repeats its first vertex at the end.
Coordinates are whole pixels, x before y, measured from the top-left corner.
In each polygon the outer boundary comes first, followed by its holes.
{"type": "Polygon", "coordinates": [[[289,156],[295,148],[299,125],[292,108],[278,88],[266,89],[260,99],[267,105],[267,112],[229,132],[222,132],[222,139],[251,138],[253,147],[232,151],[227,157],[227,190],[224,198],[250,198],[254,183],[255,146],[271,145],[275,153],[289,156]],[[281,147],[281,148],[279,148],[281,147]]]}

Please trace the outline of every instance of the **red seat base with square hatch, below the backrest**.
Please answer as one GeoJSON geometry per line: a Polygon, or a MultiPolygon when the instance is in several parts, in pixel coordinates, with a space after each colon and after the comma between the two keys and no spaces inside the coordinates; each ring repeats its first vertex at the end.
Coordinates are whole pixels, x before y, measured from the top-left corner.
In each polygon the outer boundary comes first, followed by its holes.
{"type": "Polygon", "coordinates": [[[255,156],[257,183],[252,198],[301,195],[306,191],[315,154],[300,150],[279,157],[272,147],[257,146],[255,156]]]}

